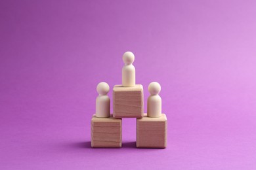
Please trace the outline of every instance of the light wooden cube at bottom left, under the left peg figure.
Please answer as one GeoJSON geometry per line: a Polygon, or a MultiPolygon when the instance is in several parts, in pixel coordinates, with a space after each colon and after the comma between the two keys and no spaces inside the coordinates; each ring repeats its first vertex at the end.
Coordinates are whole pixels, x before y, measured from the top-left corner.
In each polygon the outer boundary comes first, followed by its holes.
{"type": "Polygon", "coordinates": [[[122,120],[113,118],[91,119],[91,147],[93,148],[121,148],[122,120]]]}

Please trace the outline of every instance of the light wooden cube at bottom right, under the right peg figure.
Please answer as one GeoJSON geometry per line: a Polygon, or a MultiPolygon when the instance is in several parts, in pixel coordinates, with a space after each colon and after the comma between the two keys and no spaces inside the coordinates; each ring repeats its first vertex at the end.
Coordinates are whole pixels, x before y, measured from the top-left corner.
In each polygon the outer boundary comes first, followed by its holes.
{"type": "Polygon", "coordinates": [[[144,114],[137,118],[137,148],[165,148],[167,146],[167,117],[150,118],[144,114]]]}

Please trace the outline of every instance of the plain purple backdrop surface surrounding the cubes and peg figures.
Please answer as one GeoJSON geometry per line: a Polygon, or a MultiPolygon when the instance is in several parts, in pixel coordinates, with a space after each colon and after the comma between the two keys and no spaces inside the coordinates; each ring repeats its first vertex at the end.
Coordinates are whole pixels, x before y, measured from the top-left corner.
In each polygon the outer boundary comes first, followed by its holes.
{"type": "MultiPolygon", "coordinates": [[[[1,169],[255,169],[255,1],[0,1],[1,169]],[[161,84],[166,149],[90,148],[96,84],[161,84]]],[[[112,98],[112,92],[109,93],[112,98]]],[[[146,105],[145,105],[146,111],[146,105]]]]}

